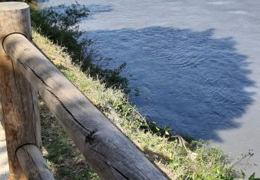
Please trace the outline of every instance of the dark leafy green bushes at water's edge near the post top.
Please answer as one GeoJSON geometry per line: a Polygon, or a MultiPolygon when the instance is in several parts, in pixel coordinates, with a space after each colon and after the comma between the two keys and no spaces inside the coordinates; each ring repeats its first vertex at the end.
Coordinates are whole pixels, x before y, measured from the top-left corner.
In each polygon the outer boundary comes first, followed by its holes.
{"type": "Polygon", "coordinates": [[[125,62],[116,69],[101,69],[93,63],[94,50],[90,48],[93,42],[91,39],[81,38],[83,31],[78,26],[81,19],[88,15],[89,10],[78,2],[71,6],[62,5],[44,10],[31,8],[33,27],[53,42],[63,46],[71,55],[73,63],[80,66],[81,71],[89,73],[92,78],[98,78],[107,87],[116,87],[126,93],[129,92],[128,80],[121,76],[125,62]]]}

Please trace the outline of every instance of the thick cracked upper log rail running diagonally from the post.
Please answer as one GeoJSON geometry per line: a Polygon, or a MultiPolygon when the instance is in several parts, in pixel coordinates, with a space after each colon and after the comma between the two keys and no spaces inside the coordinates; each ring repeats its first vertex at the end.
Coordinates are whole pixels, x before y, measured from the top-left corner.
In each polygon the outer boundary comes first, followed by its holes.
{"type": "Polygon", "coordinates": [[[3,48],[103,179],[166,179],[23,35],[3,48]]]}

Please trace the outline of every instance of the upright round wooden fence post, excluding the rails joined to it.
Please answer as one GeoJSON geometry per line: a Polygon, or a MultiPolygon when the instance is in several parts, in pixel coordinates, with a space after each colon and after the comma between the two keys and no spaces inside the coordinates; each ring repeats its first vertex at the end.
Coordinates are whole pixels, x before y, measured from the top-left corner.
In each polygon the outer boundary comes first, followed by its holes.
{"type": "Polygon", "coordinates": [[[21,33],[31,40],[30,10],[26,3],[0,3],[0,102],[6,132],[10,179],[26,179],[16,156],[26,144],[42,149],[37,93],[17,64],[3,51],[3,39],[11,33],[21,33]]]}

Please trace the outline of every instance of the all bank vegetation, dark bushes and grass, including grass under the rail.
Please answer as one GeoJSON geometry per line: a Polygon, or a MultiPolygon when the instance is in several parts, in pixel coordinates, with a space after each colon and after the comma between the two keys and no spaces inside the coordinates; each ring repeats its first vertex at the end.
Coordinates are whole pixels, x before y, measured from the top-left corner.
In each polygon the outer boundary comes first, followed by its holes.
{"type": "MultiPolygon", "coordinates": [[[[46,57],[91,100],[130,141],[164,172],[168,179],[236,179],[236,162],[217,147],[202,141],[170,134],[168,127],[157,127],[146,120],[128,100],[128,81],[121,69],[101,69],[92,63],[92,41],[78,42],[78,29],[87,8],[78,3],[38,10],[31,3],[33,42],[46,57]]],[[[56,179],[99,179],[80,155],[73,142],[40,100],[44,158],[56,179]]],[[[248,157],[248,156],[247,156],[248,157]]]]}

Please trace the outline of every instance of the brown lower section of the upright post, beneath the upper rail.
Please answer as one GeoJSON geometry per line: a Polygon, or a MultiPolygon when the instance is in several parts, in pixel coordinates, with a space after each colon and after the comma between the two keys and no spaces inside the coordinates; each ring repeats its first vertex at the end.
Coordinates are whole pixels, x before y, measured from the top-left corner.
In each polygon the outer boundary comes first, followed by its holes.
{"type": "MultiPolygon", "coordinates": [[[[37,107],[37,94],[31,88],[17,65],[0,66],[0,95],[6,133],[8,162],[11,179],[21,179],[23,173],[15,156],[20,145],[34,143],[40,149],[40,118],[37,107]]],[[[1,62],[0,62],[1,63],[1,62]]]]}

